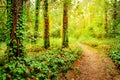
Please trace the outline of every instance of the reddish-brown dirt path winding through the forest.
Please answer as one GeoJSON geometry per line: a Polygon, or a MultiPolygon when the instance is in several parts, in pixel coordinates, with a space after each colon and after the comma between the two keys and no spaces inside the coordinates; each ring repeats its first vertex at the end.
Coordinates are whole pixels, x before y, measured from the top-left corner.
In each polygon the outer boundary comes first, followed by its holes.
{"type": "Polygon", "coordinates": [[[107,54],[79,44],[83,49],[82,59],[73,63],[61,80],[120,80],[120,71],[107,54]]]}

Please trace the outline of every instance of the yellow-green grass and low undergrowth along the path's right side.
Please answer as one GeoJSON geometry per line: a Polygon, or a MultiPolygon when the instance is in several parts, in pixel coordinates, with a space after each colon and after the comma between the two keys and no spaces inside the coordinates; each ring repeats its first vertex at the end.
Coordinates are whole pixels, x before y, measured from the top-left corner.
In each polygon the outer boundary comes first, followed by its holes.
{"type": "Polygon", "coordinates": [[[84,44],[107,52],[111,59],[118,64],[120,68],[120,40],[119,38],[103,38],[97,39],[92,37],[81,38],[80,41],[84,44]]]}

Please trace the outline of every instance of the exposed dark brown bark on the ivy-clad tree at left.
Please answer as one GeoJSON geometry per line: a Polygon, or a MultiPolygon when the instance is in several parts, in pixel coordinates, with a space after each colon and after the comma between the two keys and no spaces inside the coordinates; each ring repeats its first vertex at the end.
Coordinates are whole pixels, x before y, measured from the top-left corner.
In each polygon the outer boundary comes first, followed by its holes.
{"type": "MultiPolygon", "coordinates": [[[[11,42],[10,42],[10,47],[12,49],[12,52],[14,53],[14,56],[20,56],[21,51],[21,44],[20,44],[20,38],[17,35],[17,26],[22,24],[22,20],[19,20],[21,17],[20,14],[22,14],[22,7],[23,7],[23,0],[11,0],[12,2],[12,9],[11,9],[11,42]],[[21,21],[21,22],[20,22],[21,21]],[[19,23],[18,23],[19,22],[19,23]]],[[[22,26],[21,26],[22,27],[22,26]]]]}

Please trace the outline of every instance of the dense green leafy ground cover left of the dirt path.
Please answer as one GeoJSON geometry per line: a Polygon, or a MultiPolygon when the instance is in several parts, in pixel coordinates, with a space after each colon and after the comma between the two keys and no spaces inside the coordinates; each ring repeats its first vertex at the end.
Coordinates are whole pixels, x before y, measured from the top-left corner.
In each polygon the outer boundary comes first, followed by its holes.
{"type": "Polygon", "coordinates": [[[59,79],[58,74],[72,69],[81,49],[52,49],[27,58],[14,57],[0,62],[0,79],[59,79]]]}

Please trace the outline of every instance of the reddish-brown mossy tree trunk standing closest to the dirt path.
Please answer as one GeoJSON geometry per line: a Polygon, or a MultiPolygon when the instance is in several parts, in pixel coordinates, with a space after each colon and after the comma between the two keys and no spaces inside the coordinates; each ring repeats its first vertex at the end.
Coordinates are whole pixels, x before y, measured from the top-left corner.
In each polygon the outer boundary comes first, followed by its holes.
{"type": "Polygon", "coordinates": [[[68,3],[64,1],[63,13],[63,41],[62,47],[68,47],[68,3]]]}

